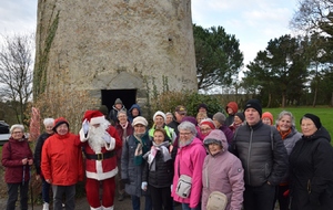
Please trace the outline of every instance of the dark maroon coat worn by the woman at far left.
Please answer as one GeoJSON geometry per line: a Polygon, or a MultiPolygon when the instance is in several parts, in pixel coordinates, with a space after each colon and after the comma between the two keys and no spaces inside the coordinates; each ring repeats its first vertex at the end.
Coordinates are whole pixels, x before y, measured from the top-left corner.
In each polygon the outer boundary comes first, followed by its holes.
{"type": "Polygon", "coordinates": [[[17,140],[12,137],[2,147],[2,166],[6,167],[4,181],[7,183],[20,183],[30,179],[30,167],[23,166],[22,159],[32,159],[32,151],[29,147],[28,139],[17,140]],[[24,175],[23,175],[24,169],[24,175]]]}

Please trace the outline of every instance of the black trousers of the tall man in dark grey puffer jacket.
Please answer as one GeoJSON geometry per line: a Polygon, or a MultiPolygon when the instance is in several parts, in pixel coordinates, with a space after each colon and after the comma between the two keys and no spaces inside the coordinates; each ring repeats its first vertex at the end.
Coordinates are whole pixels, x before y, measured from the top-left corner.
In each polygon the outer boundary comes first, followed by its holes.
{"type": "Polygon", "coordinates": [[[264,183],[260,187],[245,185],[244,210],[270,210],[275,198],[275,186],[264,183]]]}

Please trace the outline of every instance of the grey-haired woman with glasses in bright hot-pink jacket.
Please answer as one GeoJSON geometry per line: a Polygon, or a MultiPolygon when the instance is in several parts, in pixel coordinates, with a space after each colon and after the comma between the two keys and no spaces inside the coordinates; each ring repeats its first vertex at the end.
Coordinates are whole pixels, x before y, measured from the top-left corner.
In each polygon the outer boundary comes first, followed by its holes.
{"type": "Polygon", "coordinates": [[[195,137],[194,124],[183,122],[178,126],[179,149],[174,160],[173,188],[171,196],[173,200],[182,204],[183,210],[199,210],[202,189],[202,166],[205,149],[202,141],[195,137]],[[191,192],[188,198],[182,198],[175,192],[180,175],[192,178],[191,192]]]}

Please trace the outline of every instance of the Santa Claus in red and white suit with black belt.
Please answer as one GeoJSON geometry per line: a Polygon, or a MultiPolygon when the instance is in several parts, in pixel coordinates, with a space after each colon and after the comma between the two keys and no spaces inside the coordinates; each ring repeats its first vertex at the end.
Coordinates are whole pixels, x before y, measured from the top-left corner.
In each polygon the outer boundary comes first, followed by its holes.
{"type": "Polygon", "coordinates": [[[115,149],[122,141],[114,127],[99,111],[84,113],[80,140],[85,155],[85,192],[91,210],[113,210],[115,190],[114,176],[118,172],[115,149]],[[100,201],[102,183],[102,203],[100,201]]]}

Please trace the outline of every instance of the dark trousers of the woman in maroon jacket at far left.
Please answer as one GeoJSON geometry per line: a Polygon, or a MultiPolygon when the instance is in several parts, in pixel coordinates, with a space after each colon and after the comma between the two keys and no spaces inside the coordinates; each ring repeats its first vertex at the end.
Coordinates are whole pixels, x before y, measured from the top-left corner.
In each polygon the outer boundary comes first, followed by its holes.
{"type": "Polygon", "coordinates": [[[7,200],[6,210],[16,209],[16,202],[17,202],[18,196],[19,196],[19,188],[20,188],[21,210],[28,210],[29,181],[26,181],[23,185],[22,185],[22,182],[20,182],[20,183],[7,183],[8,200],[7,200]]]}

